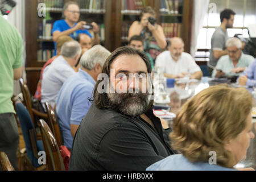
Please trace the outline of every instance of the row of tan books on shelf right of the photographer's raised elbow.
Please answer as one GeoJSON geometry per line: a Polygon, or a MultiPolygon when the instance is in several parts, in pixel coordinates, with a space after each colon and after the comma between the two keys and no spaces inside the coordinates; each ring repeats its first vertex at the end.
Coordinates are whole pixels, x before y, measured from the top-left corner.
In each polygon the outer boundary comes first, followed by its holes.
{"type": "Polygon", "coordinates": [[[180,37],[181,23],[162,23],[164,35],[167,39],[180,37]]]}

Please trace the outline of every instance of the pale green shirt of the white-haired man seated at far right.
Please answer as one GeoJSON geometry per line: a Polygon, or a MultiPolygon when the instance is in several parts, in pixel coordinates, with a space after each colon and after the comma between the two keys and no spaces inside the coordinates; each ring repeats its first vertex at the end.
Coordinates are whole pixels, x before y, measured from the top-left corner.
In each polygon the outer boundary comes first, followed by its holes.
{"type": "MultiPolygon", "coordinates": [[[[249,66],[251,62],[254,61],[254,57],[250,55],[245,55],[242,53],[240,59],[238,60],[238,63],[236,64],[236,67],[234,67],[234,64],[232,60],[229,59],[229,55],[222,56],[216,65],[216,69],[220,69],[222,72],[225,72],[227,77],[231,76],[240,76],[241,73],[233,73],[231,72],[234,68],[246,68],[249,66]]],[[[216,76],[216,69],[213,70],[212,77],[214,78],[216,76]]]]}

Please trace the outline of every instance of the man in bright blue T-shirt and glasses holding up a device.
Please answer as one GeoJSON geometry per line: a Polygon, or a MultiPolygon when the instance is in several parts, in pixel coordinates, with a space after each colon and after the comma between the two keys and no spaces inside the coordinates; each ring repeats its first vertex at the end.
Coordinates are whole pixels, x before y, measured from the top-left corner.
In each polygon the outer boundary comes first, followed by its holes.
{"type": "Polygon", "coordinates": [[[74,40],[76,40],[79,34],[87,34],[90,36],[90,38],[92,38],[93,45],[100,44],[100,36],[98,35],[100,28],[95,22],[92,22],[92,26],[93,26],[92,31],[94,33],[94,37],[92,37],[90,32],[84,28],[86,22],[81,21],[77,23],[77,21],[80,18],[80,8],[77,2],[69,1],[65,3],[63,7],[63,14],[65,19],[57,20],[53,24],[53,28],[52,28],[52,37],[53,37],[54,46],[55,46],[55,55],[56,55],[56,42],[59,39],[59,37],[63,35],[69,35],[74,40]]]}

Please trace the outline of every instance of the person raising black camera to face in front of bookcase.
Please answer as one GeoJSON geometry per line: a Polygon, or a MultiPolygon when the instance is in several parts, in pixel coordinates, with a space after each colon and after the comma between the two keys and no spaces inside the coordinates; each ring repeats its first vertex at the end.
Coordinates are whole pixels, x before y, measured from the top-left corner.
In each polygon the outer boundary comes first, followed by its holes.
{"type": "Polygon", "coordinates": [[[128,39],[141,35],[144,39],[144,51],[150,53],[153,60],[166,48],[166,37],[163,28],[156,23],[155,11],[147,6],[142,10],[141,22],[135,21],[129,29],[128,39]]]}

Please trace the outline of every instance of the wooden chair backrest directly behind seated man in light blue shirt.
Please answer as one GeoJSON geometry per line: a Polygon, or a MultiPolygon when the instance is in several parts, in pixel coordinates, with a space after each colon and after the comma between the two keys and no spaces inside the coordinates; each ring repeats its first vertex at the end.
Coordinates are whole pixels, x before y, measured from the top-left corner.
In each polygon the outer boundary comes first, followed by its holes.
{"type": "Polygon", "coordinates": [[[46,102],[45,106],[48,115],[48,126],[51,129],[53,135],[55,136],[58,146],[60,147],[61,145],[63,145],[63,139],[60,133],[60,127],[57,121],[57,116],[49,102],[46,102]]]}

